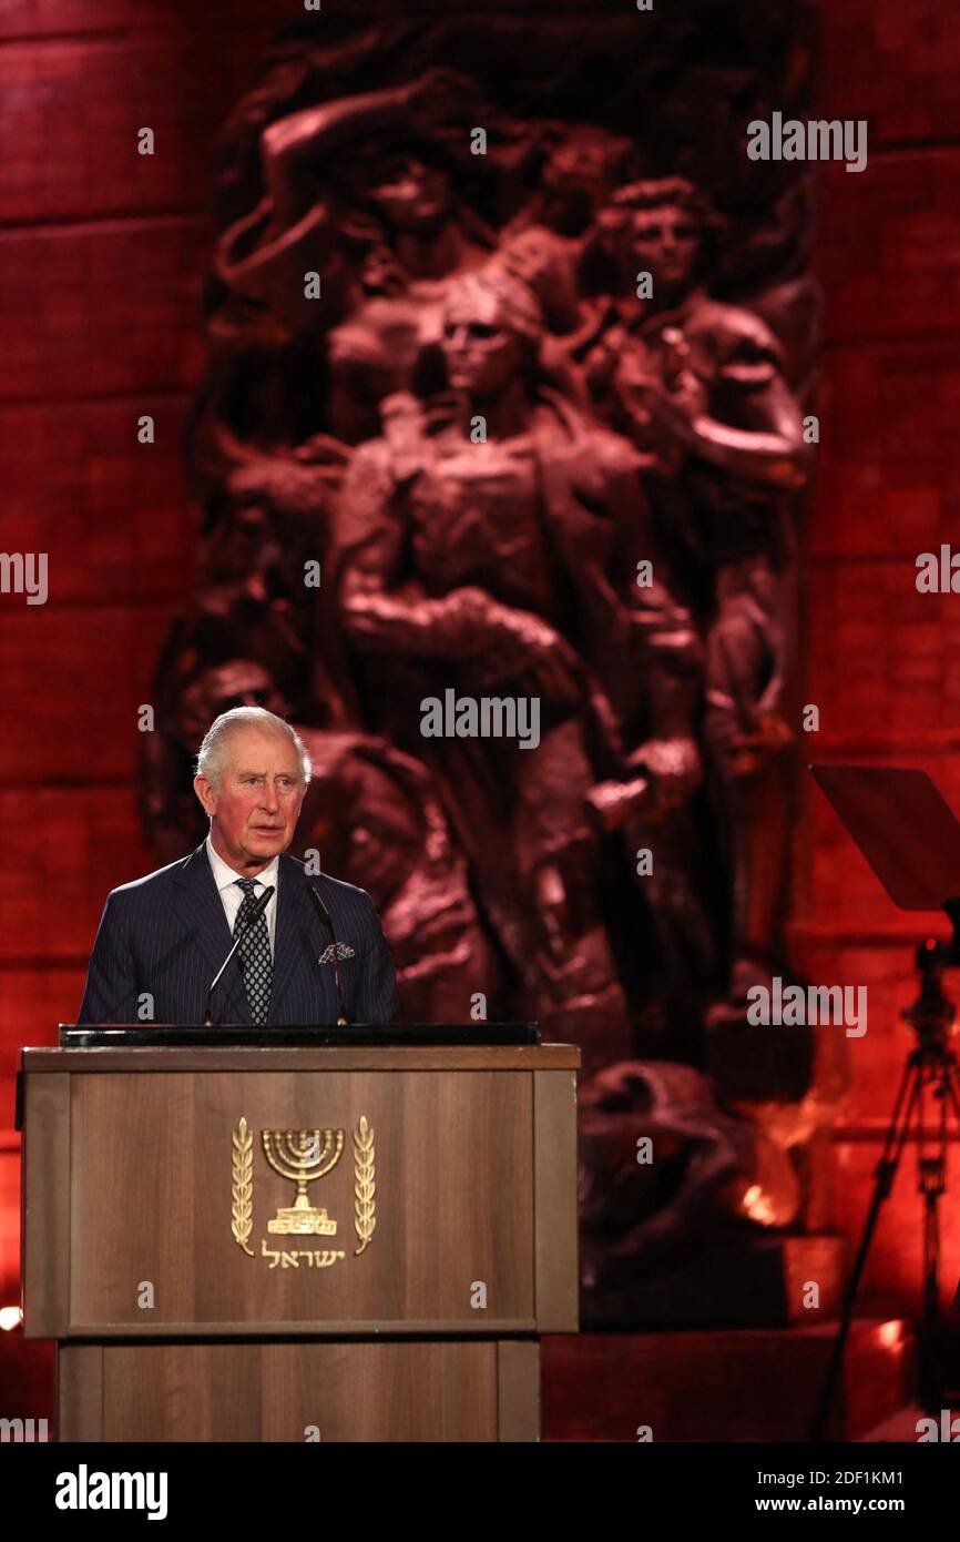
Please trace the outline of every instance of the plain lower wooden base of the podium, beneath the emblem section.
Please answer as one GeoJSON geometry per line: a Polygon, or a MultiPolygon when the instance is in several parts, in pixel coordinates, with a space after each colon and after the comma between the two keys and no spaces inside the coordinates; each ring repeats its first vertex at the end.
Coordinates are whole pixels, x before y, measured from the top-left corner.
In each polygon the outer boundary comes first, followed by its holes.
{"type": "Polygon", "coordinates": [[[536,1340],[60,1345],[59,1440],[539,1439],[536,1340]]]}

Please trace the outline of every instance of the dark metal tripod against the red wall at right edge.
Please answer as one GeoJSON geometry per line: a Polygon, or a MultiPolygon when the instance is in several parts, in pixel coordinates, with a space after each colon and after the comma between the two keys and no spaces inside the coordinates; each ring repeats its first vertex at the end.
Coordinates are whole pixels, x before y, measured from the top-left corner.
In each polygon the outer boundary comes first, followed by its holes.
{"type": "Polygon", "coordinates": [[[829,1371],[812,1425],[811,1437],[815,1442],[824,1439],[837,1380],[843,1366],[854,1305],[860,1291],[860,1278],[866,1266],[883,1201],[889,1198],[894,1187],[903,1147],[911,1135],[917,1141],[917,1189],[923,1197],[923,1317],[918,1334],[920,1402],[928,1411],[940,1408],[943,1392],[937,1354],[940,1346],[940,1198],[946,1192],[948,1106],[952,1107],[954,1118],[960,1127],[960,1067],[957,1066],[957,1056],[948,1047],[955,1008],[943,993],[943,971],[960,967],[960,899],[949,899],[945,908],[954,927],[951,942],[926,941],[917,948],[920,993],[917,1001],[901,1013],[917,1035],[917,1047],[908,1056],[903,1069],[894,1113],[883,1143],[883,1153],[877,1163],[874,1195],[860,1237],[854,1269],[848,1280],[840,1331],[834,1343],[829,1371]],[[925,1124],[928,1095],[934,1104],[935,1135],[932,1138],[925,1124]],[[934,1155],[929,1155],[931,1146],[934,1155]]]}

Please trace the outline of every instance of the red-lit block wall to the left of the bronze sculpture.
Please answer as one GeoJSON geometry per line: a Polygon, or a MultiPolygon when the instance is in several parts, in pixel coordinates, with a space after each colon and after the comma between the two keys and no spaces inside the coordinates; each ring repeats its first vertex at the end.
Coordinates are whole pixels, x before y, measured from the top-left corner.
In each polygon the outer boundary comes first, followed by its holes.
{"type": "Polygon", "coordinates": [[[18,1049],[72,1021],[106,891],[154,865],[136,719],[191,578],[180,436],[213,142],[277,9],[0,6],[0,550],[49,555],[45,606],[0,597],[0,1305],[17,1300],[18,1049]]]}

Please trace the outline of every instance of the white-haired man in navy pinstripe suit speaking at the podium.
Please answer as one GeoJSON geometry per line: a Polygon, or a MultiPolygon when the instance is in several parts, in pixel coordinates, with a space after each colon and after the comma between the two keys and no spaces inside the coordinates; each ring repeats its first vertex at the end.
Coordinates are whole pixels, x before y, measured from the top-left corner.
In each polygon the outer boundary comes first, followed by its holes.
{"type": "Polygon", "coordinates": [[[194,780],[210,834],[108,896],[79,1022],[396,1021],[393,961],[370,896],[287,856],[310,771],[282,717],[259,706],[217,717],[194,780]]]}

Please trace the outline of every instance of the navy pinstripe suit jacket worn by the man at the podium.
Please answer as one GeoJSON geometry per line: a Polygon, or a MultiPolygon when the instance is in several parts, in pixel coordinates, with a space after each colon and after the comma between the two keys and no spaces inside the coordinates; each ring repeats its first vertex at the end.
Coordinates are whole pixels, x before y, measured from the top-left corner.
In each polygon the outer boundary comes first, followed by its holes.
{"type": "MultiPolygon", "coordinates": [[[[399,1016],[393,959],[370,896],[325,873],[307,876],[304,864],[280,854],[273,951],[273,995],[267,1027],[293,1022],[336,1022],[333,961],[307,887],[319,890],[341,947],[344,1007],[351,1022],[394,1022],[399,1016]]],[[[89,958],[86,990],[77,1022],[202,1022],[206,990],[227,958],[233,938],[214,876],[200,845],[106,897],[89,958]],[[142,1012],[153,996],[153,1016],[142,1012]]],[[[250,1007],[239,959],[231,959],[213,998],[216,1024],[250,1025],[250,1007]]]]}

